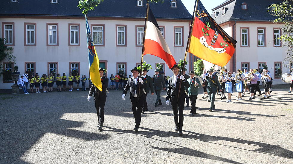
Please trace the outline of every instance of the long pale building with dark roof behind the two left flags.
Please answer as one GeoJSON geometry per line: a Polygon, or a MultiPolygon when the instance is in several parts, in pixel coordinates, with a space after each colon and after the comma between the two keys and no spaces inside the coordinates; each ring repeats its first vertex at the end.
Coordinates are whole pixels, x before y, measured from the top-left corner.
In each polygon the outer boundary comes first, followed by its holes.
{"type": "MultiPolygon", "coordinates": [[[[78,0],[6,0],[0,11],[1,33],[13,48],[15,63],[1,62],[3,69],[19,67],[39,75],[77,70],[89,77],[86,23],[78,0]]],[[[184,58],[191,15],[180,0],[150,4],[162,34],[176,61],[184,58]]],[[[130,70],[141,61],[146,0],[105,0],[88,14],[100,66],[106,76],[130,70]]],[[[187,58],[188,59],[188,58],[187,58]]],[[[144,61],[163,65],[164,75],[171,76],[167,64],[153,55],[144,61]]],[[[187,68],[189,69],[189,67],[187,68]]],[[[2,76],[3,77],[3,76],[2,76]]],[[[0,89],[11,89],[12,81],[0,78],[0,89]]],[[[56,86],[55,86],[56,87],[56,86]]],[[[87,83],[88,87],[88,83],[87,83]]]]}

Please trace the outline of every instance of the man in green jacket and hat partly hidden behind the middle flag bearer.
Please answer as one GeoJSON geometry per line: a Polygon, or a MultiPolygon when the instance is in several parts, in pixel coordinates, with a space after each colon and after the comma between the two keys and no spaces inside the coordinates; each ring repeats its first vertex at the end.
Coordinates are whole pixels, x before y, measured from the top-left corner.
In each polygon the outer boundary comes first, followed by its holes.
{"type": "Polygon", "coordinates": [[[142,70],[142,77],[144,78],[144,108],[142,109],[142,113],[148,111],[147,103],[146,103],[146,95],[149,93],[149,88],[151,88],[151,95],[154,95],[154,86],[152,84],[152,78],[149,75],[146,75],[149,70],[142,70]]]}

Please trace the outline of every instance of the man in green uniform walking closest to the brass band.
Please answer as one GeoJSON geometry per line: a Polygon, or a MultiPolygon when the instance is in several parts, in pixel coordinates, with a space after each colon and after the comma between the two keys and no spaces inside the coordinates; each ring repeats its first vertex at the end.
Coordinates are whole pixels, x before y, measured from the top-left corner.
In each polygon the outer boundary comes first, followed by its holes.
{"type": "Polygon", "coordinates": [[[202,86],[207,86],[207,94],[210,97],[210,112],[215,110],[215,96],[217,91],[222,92],[221,85],[218,80],[218,76],[213,74],[213,69],[208,70],[209,74],[206,77],[202,86]]]}

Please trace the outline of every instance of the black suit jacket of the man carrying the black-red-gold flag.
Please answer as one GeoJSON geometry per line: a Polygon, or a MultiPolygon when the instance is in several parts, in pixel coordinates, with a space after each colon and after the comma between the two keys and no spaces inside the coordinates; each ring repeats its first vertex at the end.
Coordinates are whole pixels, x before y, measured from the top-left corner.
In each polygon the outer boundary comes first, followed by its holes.
{"type": "MultiPolygon", "coordinates": [[[[171,98],[171,103],[177,101],[179,85],[180,85],[180,81],[182,81],[180,79],[180,75],[178,75],[178,78],[176,81],[176,87],[175,87],[175,85],[174,85],[175,82],[173,82],[173,79],[174,79],[173,76],[168,79],[168,87],[167,87],[167,95],[166,95],[166,100],[169,100],[171,98]]],[[[181,83],[179,98],[181,98],[181,96],[183,96],[183,94],[186,94],[184,88],[185,87],[188,88],[189,86],[190,85],[189,85],[187,79],[184,79],[184,81],[182,81],[182,83],[181,83]]],[[[185,96],[183,96],[183,97],[185,98],[185,96]]]]}

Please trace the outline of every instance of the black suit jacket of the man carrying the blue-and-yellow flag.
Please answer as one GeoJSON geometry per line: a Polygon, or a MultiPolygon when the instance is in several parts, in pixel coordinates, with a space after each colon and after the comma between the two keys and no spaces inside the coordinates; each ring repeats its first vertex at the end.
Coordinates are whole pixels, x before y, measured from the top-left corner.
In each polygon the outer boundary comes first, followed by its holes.
{"type": "Polygon", "coordinates": [[[102,77],[101,81],[102,81],[103,91],[100,91],[99,89],[97,89],[97,87],[94,86],[94,84],[91,84],[91,89],[89,89],[88,95],[92,96],[94,94],[94,101],[96,101],[96,99],[98,100],[103,99],[104,97],[107,96],[106,89],[108,87],[109,78],[102,77]]]}

